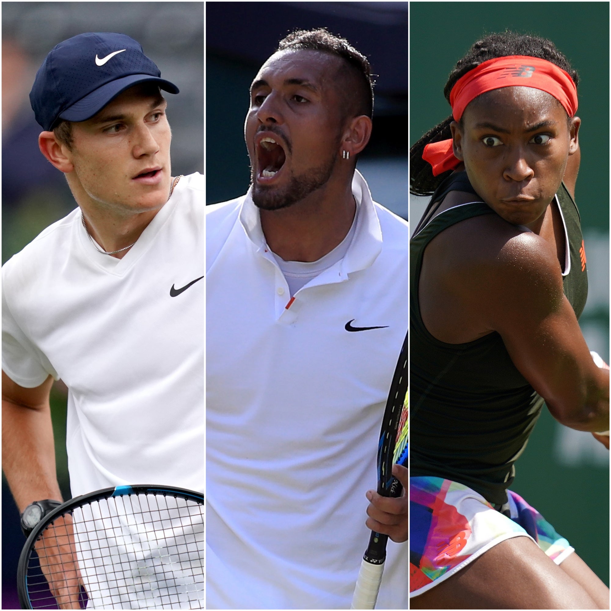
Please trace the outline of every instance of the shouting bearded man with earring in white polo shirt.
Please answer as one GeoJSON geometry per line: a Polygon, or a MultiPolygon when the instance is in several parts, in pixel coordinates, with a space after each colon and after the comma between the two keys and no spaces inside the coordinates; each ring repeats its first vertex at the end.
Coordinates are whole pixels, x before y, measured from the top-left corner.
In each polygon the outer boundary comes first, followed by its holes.
{"type": "MultiPolygon", "coordinates": [[[[366,493],[367,526],[407,538],[407,498],[370,490],[409,241],[355,170],[372,108],[369,64],[346,40],[288,35],[251,86],[251,188],[208,206],[211,609],[347,609],[366,493]]],[[[389,547],[379,606],[406,609],[407,547],[389,547]]]]}

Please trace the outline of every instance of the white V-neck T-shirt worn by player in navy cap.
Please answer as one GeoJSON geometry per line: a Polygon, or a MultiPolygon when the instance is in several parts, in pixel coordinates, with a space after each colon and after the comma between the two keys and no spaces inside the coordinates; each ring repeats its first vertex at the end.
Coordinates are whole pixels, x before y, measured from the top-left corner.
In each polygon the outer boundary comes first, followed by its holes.
{"type": "Polygon", "coordinates": [[[76,208],[2,267],[2,369],[67,384],[73,496],[203,492],[205,282],[181,289],[204,275],[204,210],[191,174],[122,259],[95,250],[76,208]]]}

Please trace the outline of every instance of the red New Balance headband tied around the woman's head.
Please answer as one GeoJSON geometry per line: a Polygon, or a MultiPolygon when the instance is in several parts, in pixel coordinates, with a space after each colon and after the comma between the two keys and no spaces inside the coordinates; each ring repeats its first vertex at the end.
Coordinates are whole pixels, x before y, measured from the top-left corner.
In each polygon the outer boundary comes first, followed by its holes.
{"type": "MultiPolygon", "coordinates": [[[[532,87],[553,95],[569,117],[577,112],[577,87],[562,68],[546,59],[526,55],[510,55],[489,59],[456,81],[450,92],[452,116],[459,121],[467,104],[478,95],[502,87],[532,87]]],[[[453,170],[456,159],[452,139],[433,142],[424,147],[422,158],[433,166],[433,176],[453,170]]]]}

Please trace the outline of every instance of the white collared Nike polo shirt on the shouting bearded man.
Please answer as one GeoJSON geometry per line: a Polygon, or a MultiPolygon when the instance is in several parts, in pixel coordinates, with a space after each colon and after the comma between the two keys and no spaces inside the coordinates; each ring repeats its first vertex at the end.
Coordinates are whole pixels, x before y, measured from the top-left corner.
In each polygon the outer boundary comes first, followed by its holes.
{"type": "MultiPolygon", "coordinates": [[[[209,609],[350,606],[409,302],[408,224],[353,194],[348,251],[294,298],[250,192],[207,207],[209,609]]],[[[408,575],[390,541],[379,608],[408,575]]]]}

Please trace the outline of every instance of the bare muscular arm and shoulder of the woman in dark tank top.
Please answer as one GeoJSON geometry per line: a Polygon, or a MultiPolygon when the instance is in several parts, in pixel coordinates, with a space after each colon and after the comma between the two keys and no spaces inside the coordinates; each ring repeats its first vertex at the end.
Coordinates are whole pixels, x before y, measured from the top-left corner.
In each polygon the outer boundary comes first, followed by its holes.
{"type": "Polygon", "coordinates": [[[581,431],[609,430],[609,370],[590,356],[549,244],[533,233],[508,240],[475,282],[481,318],[555,419],[581,431]]]}

